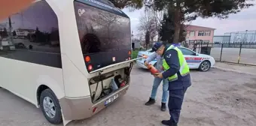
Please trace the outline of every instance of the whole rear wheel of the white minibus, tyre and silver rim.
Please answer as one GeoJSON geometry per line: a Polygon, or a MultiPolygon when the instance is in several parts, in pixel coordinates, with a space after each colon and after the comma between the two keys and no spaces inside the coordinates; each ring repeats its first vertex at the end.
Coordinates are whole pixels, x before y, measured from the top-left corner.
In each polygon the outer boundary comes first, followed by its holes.
{"type": "Polygon", "coordinates": [[[41,93],[40,107],[41,111],[44,113],[44,117],[51,124],[62,123],[62,113],[59,101],[50,89],[46,89],[41,93]]]}

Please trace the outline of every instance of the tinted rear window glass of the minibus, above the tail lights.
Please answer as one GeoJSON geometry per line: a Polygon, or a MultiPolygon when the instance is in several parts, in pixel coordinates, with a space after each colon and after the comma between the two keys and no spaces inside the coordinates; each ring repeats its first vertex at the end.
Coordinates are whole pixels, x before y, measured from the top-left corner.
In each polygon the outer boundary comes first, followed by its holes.
{"type": "Polygon", "coordinates": [[[131,49],[130,19],[75,1],[84,54],[131,49]]]}

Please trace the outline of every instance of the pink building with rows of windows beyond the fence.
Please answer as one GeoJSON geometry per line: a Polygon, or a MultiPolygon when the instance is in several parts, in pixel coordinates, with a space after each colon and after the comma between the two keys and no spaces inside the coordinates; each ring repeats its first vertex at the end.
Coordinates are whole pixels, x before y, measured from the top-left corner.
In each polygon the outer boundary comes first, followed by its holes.
{"type": "Polygon", "coordinates": [[[197,40],[203,43],[213,43],[215,28],[186,25],[185,29],[187,31],[186,41],[189,43],[194,43],[197,40]]]}

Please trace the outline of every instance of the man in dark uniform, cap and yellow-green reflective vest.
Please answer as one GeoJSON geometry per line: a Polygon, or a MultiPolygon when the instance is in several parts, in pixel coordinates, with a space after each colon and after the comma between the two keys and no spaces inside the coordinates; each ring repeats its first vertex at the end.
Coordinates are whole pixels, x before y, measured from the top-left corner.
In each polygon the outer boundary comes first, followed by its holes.
{"type": "Polygon", "coordinates": [[[181,50],[176,46],[154,46],[158,55],[163,57],[163,73],[154,76],[169,80],[169,120],[163,120],[162,124],[177,126],[181,113],[181,106],[187,88],[191,86],[190,70],[181,50]]]}

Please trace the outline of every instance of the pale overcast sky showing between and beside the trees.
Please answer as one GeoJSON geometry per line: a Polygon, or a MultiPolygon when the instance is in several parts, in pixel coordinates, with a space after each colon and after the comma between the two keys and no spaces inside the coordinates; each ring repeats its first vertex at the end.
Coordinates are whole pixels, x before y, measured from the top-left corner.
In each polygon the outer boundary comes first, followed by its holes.
{"type": "MultiPolygon", "coordinates": [[[[256,3],[254,1],[254,3],[256,3]]],[[[131,28],[134,33],[138,33],[136,26],[139,23],[139,17],[144,12],[144,9],[134,10],[130,12],[128,9],[123,11],[130,17],[131,28]]],[[[226,32],[232,31],[251,31],[256,30],[256,4],[253,7],[244,9],[239,13],[232,14],[228,19],[219,20],[217,18],[202,19],[197,18],[191,25],[205,26],[216,28],[215,35],[223,35],[226,32]]]]}

